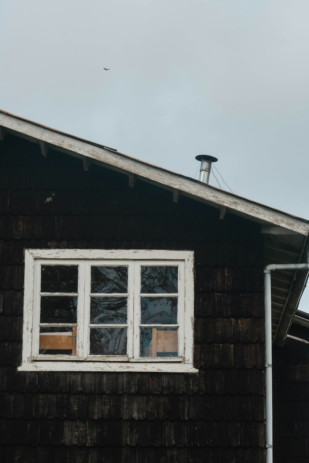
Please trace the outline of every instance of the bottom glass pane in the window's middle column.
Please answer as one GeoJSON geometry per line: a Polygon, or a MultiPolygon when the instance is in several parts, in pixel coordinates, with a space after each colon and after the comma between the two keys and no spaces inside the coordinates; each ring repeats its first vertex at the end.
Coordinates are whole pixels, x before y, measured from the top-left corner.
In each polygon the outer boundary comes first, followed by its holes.
{"type": "Polygon", "coordinates": [[[126,355],[126,328],[90,328],[90,355],[126,355]]]}

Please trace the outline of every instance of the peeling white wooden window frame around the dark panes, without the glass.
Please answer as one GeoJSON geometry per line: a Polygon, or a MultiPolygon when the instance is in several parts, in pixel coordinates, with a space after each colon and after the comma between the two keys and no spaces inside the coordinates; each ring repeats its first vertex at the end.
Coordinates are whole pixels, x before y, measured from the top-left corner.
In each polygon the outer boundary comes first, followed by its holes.
{"type": "MultiPolygon", "coordinates": [[[[194,253],[176,250],[80,250],[80,249],[27,249],[25,250],[25,294],[22,364],[19,371],[157,371],[196,373],[193,366],[193,321],[194,321],[194,253]],[[85,262],[83,267],[82,261],[85,262]],[[150,262],[151,261],[151,262],[150,262]],[[132,263],[134,262],[134,263],[132,263]],[[78,336],[76,356],[38,355],[39,291],[41,264],[79,265],[77,325],[83,326],[83,336],[78,336]],[[133,304],[134,316],[128,310],[128,357],[88,356],[89,292],[81,281],[80,272],[90,270],[91,265],[126,265],[129,263],[128,278],[134,278],[134,291],[129,294],[128,304],[133,304]],[[131,263],[131,264],[130,264],[131,263]],[[139,357],[139,297],[140,265],[178,265],[178,353],[179,357],[139,357]],[[131,275],[130,275],[131,272],[131,275]],[[134,272],[134,275],[132,274],[134,272]],[[136,287],[136,282],[138,285],[136,287]],[[85,299],[85,300],[84,300],[85,299]],[[82,310],[80,309],[82,307],[82,310]],[[84,311],[85,307],[85,311],[84,311]],[[134,337],[134,342],[132,336],[134,337]],[[134,351],[133,351],[134,345],[134,351]],[[133,352],[130,357],[130,352],[133,352]]],[[[86,283],[85,283],[86,285],[86,283]]],[[[90,281],[88,281],[88,286],[90,281]]],[[[149,296],[149,294],[147,294],[149,296]]],[[[157,295],[157,294],[156,294],[157,295]]],[[[172,296],[173,294],[171,294],[172,296]]],[[[131,306],[132,307],[132,306],[131,306]]]]}

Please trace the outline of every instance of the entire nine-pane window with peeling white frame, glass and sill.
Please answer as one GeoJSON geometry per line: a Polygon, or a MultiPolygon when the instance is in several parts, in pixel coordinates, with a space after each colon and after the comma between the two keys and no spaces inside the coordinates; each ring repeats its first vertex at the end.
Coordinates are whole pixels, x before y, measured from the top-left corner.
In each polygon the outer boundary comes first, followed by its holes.
{"type": "Polygon", "coordinates": [[[25,250],[19,370],[196,372],[193,252],[25,250]]]}

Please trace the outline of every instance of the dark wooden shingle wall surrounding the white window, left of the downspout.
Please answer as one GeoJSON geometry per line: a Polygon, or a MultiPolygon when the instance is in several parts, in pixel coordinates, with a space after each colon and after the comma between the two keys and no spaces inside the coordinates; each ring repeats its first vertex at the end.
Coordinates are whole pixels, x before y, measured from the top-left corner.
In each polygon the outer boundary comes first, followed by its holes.
{"type": "Polygon", "coordinates": [[[264,462],[260,226],[9,135],[1,162],[0,461],[264,462]],[[25,248],[194,250],[199,374],[17,372],[25,248]]]}

